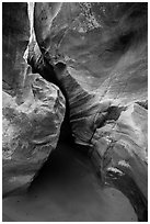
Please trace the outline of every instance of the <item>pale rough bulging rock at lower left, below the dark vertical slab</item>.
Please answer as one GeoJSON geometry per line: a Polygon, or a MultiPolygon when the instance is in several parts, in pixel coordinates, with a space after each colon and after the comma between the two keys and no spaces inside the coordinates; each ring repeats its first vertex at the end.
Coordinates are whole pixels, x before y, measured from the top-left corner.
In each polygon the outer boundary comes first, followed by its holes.
{"type": "Polygon", "coordinates": [[[3,92],[4,195],[31,183],[55,149],[65,115],[65,98],[60,90],[39,75],[35,80],[33,76],[28,82],[31,91],[22,104],[3,92]]]}

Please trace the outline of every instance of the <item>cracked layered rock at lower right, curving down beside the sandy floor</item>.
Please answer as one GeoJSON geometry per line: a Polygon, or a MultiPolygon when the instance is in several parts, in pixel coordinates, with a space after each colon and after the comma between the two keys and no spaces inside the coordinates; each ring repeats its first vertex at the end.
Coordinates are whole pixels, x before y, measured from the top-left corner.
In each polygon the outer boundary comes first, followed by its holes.
{"type": "Polygon", "coordinates": [[[130,198],[139,220],[148,198],[148,112],[129,105],[117,121],[96,128],[91,157],[105,184],[113,184],[130,198]]]}

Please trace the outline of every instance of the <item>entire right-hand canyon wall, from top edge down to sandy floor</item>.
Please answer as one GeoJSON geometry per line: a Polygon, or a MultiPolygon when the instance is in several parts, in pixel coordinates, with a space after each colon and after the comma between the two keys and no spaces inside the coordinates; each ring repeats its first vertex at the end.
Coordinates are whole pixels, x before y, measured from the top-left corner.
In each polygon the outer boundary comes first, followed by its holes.
{"type": "Polygon", "coordinates": [[[140,221],[147,213],[147,3],[35,3],[38,45],[31,60],[60,87],[76,143],[90,148],[103,182],[129,198],[140,221]]]}

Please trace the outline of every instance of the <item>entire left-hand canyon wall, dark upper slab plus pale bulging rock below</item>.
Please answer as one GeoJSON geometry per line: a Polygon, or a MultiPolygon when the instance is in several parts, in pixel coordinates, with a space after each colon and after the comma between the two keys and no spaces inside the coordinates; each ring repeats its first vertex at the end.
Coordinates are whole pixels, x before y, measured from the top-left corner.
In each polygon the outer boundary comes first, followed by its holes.
{"type": "Polygon", "coordinates": [[[2,165],[3,195],[8,195],[28,187],[55,149],[66,101],[58,87],[33,75],[26,63],[27,3],[3,3],[2,12],[2,165]]]}

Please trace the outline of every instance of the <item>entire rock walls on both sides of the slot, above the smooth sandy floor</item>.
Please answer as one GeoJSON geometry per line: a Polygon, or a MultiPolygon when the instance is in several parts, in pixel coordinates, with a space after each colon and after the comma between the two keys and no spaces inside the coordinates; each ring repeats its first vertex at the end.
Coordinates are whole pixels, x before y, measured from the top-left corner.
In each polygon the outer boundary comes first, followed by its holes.
{"type": "Polygon", "coordinates": [[[84,148],[102,186],[119,189],[146,221],[148,4],[36,2],[28,10],[3,3],[8,192],[12,177],[14,189],[28,172],[32,181],[64,120],[62,138],[84,148]]]}

